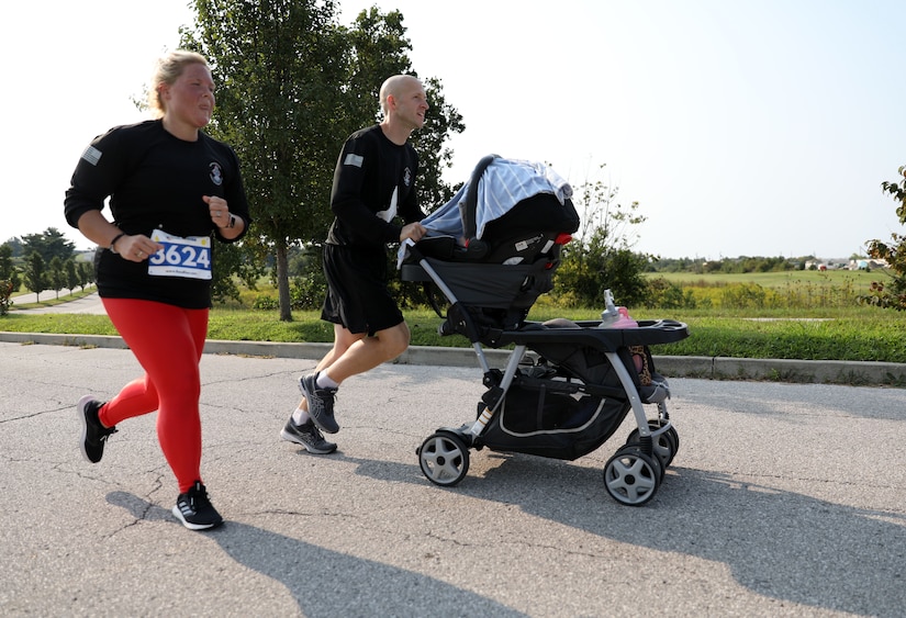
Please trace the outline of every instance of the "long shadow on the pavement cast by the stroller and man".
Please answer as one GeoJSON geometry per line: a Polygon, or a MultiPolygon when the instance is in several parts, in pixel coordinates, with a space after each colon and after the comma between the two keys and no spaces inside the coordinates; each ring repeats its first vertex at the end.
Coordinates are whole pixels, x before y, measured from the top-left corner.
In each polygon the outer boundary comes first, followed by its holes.
{"type": "MultiPolygon", "coordinates": [[[[903,523],[892,521],[902,516],[684,468],[670,468],[655,499],[634,508],[606,494],[603,463],[580,468],[488,451],[473,457],[499,461],[483,477],[467,476],[456,487],[436,490],[516,505],[619,542],[724,563],[740,585],[765,597],[870,616],[892,615],[891,600],[906,599],[906,533],[903,523]],[[567,502],[588,508],[564,509],[567,502]]],[[[361,475],[428,483],[414,454],[411,467],[345,459],[357,463],[361,475]]]]}

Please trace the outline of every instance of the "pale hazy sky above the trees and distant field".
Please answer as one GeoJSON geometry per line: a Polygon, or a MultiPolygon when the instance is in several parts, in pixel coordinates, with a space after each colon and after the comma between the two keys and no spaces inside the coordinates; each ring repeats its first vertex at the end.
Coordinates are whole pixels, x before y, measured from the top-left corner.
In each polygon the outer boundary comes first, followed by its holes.
{"type": "MultiPolygon", "coordinates": [[[[646,217],[634,249],[663,258],[848,258],[906,232],[881,191],[906,165],[902,0],[339,5],[344,24],[402,12],[413,69],[466,124],[448,182],[492,153],[602,181],[646,217]]],[[[72,169],[92,137],[148,117],[134,100],[192,13],[82,0],[7,15],[0,243],[56,227],[89,248],[63,217],[72,169]]]]}

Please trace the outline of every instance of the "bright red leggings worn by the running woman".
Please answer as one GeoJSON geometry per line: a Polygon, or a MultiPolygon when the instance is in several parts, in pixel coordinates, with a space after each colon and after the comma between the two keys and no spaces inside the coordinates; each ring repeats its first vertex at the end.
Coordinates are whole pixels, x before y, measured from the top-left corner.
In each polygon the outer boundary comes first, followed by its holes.
{"type": "Polygon", "coordinates": [[[208,310],[153,301],[102,299],[110,321],[145,370],[99,411],[107,427],[157,413],[157,439],[186,493],[201,481],[199,362],[208,336],[208,310]]]}

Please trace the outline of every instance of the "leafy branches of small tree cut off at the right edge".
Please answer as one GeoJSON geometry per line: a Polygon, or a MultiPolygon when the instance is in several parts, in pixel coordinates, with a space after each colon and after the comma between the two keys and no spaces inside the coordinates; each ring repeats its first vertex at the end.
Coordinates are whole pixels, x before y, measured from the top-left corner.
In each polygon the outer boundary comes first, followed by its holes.
{"type": "MultiPolygon", "coordinates": [[[[902,180],[882,182],[881,190],[890,193],[897,203],[896,215],[899,223],[906,225],[906,166],[897,171],[902,180]]],[[[890,244],[874,239],[868,240],[866,245],[870,258],[886,260],[890,278],[886,282],[872,281],[869,293],[859,296],[859,301],[884,308],[906,310],[906,236],[894,233],[890,244]]]]}

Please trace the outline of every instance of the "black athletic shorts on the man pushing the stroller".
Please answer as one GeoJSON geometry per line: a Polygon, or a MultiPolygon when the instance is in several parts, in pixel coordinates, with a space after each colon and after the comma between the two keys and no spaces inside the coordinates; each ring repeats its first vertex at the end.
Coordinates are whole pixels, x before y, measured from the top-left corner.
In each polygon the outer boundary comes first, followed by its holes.
{"type": "Polygon", "coordinates": [[[327,297],[321,319],[368,335],[401,324],[403,314],[387,286],[387,260],[383,248],[324,245],[327,297]]]}

